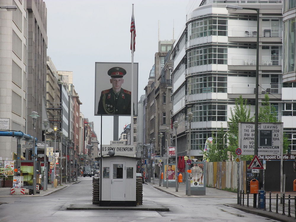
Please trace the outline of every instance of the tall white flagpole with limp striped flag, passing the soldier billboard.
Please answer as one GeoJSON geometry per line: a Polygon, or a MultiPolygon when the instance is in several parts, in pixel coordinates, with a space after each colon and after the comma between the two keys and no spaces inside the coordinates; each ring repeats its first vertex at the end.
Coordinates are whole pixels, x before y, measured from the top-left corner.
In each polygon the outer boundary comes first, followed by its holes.
{"type": "MultiPolygon", "coordinates": [[[[133,53],[134,53],[134,31],[135,31],[135,21],[133,17],[133,4],[132,4],[132,22],[133,22],[133,30],[131,32],[131,145],[133,145],[133,53]]],[[[131,24],[132,25],[132,24],[131,24]]]]}

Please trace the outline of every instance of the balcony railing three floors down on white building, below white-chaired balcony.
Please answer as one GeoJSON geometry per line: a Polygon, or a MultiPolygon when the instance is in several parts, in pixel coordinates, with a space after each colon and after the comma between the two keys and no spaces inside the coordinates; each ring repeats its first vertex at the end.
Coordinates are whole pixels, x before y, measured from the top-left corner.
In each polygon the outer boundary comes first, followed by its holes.
{"type": "MultiPolygon", "coordinates": [[[[280,84],[263,84],[260,85],[259,93],[261,94],[281,94],[280,84]]],[[[235,84],[232,85],[232,94],[255,94],[255,84],[235,84]]]]}

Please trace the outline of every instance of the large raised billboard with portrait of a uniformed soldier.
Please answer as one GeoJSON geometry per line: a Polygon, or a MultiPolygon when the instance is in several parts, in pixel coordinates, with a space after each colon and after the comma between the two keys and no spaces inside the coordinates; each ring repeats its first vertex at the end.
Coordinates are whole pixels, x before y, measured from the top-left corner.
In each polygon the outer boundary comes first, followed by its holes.
{"type": "Polygon", "coordinates": [[[138,63],[133,64],[133,87],[130,62],[95,63],[94,115],[130,116],[138,110],[138,63]]]}

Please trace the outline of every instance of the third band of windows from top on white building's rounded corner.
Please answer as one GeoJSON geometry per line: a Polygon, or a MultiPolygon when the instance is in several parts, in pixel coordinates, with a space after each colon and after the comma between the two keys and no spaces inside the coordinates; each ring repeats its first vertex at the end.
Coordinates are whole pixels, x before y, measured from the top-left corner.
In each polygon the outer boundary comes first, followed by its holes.
{"type": "Polygon", "coordinates": [[[227,76],[192,77],[188,80],[188,95],[200,93],[227,93],[227,76]]]}

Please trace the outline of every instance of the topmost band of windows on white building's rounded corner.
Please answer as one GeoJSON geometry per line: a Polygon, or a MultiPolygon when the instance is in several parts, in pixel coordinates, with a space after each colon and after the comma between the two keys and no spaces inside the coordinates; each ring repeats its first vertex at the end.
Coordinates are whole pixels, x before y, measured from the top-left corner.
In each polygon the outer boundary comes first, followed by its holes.
{"type": "Polygon", "coordinates": [[[189,25],[189,40],[203,36],[227,36],[227,18],[207,17],[189,25]]]}

